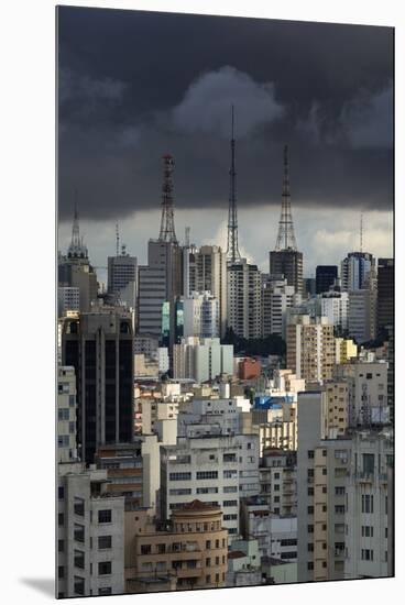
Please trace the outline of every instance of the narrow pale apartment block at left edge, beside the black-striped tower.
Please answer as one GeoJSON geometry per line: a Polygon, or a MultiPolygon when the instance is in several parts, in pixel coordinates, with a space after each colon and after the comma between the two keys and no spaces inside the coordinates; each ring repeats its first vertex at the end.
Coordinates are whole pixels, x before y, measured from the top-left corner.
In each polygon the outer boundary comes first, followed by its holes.
{"type": "Polygon", "coordinates": [[[57,370],[57,462],[77,460],[76,374],[70,366],[57,370]]]}

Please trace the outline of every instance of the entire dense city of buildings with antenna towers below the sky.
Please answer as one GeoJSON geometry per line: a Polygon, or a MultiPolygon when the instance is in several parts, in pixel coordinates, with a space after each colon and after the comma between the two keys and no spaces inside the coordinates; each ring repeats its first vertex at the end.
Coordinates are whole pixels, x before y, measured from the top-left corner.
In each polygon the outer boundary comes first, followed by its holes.
{"type": "Polygon", "coordinates": [[[304,278],[284,150],[264,274],[180,244],[174,162],[147,263],[108,284],[79,235],[58,257],[59,597],[393,574],[393,258],[304,278]],[[273,348],[277,345],[278,348],[273,348]]]}

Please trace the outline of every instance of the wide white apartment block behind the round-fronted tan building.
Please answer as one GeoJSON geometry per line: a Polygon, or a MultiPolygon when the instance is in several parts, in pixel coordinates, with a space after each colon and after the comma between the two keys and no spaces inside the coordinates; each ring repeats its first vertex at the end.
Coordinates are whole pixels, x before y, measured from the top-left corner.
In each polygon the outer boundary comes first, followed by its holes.
{"type": "Polygon", "coordinates": [[[239,534],[239,499],[259,493],[255,436],[179,437],[161,449],[161,510],[171,512],[195,498],[218,504],[230,539],[239,534]]]}

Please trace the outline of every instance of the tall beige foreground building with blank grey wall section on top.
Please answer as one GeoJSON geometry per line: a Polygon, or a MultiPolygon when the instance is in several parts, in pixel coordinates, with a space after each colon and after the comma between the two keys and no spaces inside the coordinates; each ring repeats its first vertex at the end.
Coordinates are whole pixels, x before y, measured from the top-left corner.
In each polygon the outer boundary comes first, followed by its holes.
{"type": "Polygon", "coordinates": [[[350,439],[327,439],[326,393],[298,395],[298,582],[344,579],[350,439]]]}

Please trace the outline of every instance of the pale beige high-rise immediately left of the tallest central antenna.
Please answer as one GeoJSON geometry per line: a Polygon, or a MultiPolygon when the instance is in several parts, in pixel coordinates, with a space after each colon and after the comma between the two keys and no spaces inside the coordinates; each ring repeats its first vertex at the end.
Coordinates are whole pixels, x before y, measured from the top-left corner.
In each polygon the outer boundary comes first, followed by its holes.
{"type": "Polygon", "coordinates": [[[227,330],[227,254],[217,245],[184,249],[184,296],[209,292],[219,304],[220,337],[227,330]]]}

